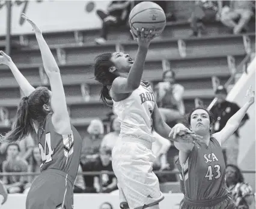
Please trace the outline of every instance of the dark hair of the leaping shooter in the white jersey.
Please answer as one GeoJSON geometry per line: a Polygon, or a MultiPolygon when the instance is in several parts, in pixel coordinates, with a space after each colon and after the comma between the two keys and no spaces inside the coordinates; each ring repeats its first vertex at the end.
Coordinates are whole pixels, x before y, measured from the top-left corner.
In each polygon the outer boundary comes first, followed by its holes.
{"type": "Polygon", "coordinates": [[[103,53],[97,56],[94,64],[94,76],[95,80],[99,81],[103,86],[100,92],[100,99],[108,106],[108,100],[111,100],[111,96],[109,95],[108,86],[111,86],[117,75],[109,72],[109,68],[114,66],[114,63],[111,62],[112,53],[103,53]]]}

